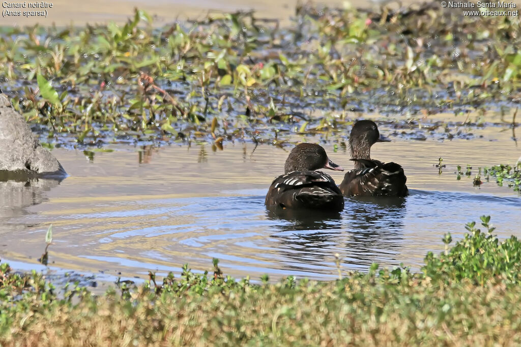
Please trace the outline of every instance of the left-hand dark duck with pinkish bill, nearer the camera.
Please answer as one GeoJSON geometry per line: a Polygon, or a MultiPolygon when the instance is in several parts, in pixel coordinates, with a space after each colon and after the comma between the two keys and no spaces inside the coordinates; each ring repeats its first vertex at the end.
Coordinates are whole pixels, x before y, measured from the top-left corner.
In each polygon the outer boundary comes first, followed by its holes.
{"type": "Polygon", "coordinates": [[[343,171],[329,159],[322,146],[301,143],[293,148],[284,164],[284,175],[277,177],[266,194],[265,205],[282,209],[313,209],[340,212],[344,197],[334,180],[318,169],[343,171]]]}

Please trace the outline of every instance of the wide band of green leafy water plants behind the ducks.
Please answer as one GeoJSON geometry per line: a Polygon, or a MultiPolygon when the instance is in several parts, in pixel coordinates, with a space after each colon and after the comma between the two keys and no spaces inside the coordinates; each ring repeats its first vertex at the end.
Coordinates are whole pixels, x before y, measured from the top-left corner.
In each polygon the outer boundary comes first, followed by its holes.
{"type": "Polygon", "coordinates": [[[472,139],[429,117],[454,113],[470,129],[489,109],[503,114],[521,100],[519,17],[463,16],[432,3],[299,6],[287,28],[252,12],[152,22],[136,10],[123,26],[3,27],[3,91],[47,146],[80,147],[345,140],[366,113],[406,115],[387,120],[394,137],[472,139]]]}

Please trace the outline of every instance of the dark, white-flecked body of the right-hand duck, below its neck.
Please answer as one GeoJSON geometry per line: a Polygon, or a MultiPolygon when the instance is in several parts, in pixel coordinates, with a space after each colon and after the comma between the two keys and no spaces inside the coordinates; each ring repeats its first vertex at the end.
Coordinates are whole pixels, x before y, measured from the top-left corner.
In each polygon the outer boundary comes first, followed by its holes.
{"type": "Polygon", "coordinates": [[[382,163],[379,160],[351,159],[362,163],[362,169],[345,173],[340,184],[340,190],[345,196],[406,196],[408,194],[405,182],[407,177],[401,165],[382,163]]]}

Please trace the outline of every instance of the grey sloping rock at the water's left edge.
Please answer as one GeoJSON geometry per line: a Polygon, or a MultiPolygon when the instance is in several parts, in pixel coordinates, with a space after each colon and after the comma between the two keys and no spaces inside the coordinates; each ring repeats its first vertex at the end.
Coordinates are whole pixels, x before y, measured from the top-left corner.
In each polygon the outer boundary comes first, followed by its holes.
{"type": "Polygon", "coordinates": [[[0,94],[0,180],[66,176],[64,168],[42,147],[7,96],[0,94]]]}

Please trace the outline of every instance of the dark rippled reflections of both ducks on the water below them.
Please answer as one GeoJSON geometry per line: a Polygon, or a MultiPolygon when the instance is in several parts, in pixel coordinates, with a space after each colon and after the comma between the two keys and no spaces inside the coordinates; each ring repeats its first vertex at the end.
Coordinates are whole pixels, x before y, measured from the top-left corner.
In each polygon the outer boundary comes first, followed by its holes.
{"type": "Polygon", "coordinates": [[[271,237],[293,270],[331,268],[331,255],[339,253],[352,267],[366,269],[375,255],[397,253],[402,242],[407,198],[353,197],[346,199],[342,214],[268,212],[269,219],[286,221],[274,225],[280,230],[271,237]],[[326,262],[326,266],[324,266],[326,262]]]}

